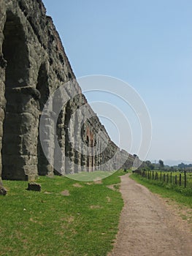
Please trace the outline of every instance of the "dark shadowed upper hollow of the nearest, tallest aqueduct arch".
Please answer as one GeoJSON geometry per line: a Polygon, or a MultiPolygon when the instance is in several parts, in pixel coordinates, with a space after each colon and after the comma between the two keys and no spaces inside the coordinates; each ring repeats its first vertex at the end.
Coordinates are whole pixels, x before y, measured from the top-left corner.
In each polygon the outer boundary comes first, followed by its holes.
{"type": "Polygon", "coordinates": [[[4,25],[4,59],[7,60],[6,86],[14,88],[26,85],[28,80],[28,49],[23,26],[17,16],[7,12],[4,25]]]}

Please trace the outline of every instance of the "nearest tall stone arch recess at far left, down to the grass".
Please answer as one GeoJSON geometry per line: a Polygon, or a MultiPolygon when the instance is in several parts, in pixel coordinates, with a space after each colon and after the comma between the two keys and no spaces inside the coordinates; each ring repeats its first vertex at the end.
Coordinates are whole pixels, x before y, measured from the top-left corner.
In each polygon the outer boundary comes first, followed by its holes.
{"type": "MultiPolygon", "coordinates": [[[[7,61],[5,69],[5,91],[7,100],[3,124],[2,139],[2,178],[4,179],[28,179],[26,162],[28,156],[28,140],[26,127],[30,117],[26,114],[26,104],[31,96],[22,94],[22,87],[28,85],[29,59],[26,45],[26,34],[20,18],[12,12],[7,12],[7,20],[4,24],[4,42],[2,45],[4,59],[7,61]],[[25,123],[25,124],[23,124],[25,123]]],[[[29,90],[30,91],[30,90],[29,90]]],[[[31,165],[33,159],[31,159],[31,165]]]]}

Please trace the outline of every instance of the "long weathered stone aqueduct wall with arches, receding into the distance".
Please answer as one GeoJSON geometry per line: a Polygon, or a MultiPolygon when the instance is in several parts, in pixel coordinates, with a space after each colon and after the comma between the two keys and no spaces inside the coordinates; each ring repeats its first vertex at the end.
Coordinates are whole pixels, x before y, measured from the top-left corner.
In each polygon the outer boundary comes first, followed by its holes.
{"type": "MultiPolygon", "coordinates": [[[[42,1],[0,0],[0,177],[31,180],[37,175],[97,170],[103,163],[105,170],[115,169],[117,162],[125,162],[124,167],[133,165],[134,157],[112,143],[87,103],[42,1]],[[65,95],[77,96],[62,108],[56,125],[47,117],[43,131],[50,139],[45,144],[50,159],[55,159],[59,166],[58,172],[42,152],[39,118],[53,91],[70,81],[65,95]],[[85,115],[85,122],[80,129],[82,116],[73,114],[83,105],[86,107],[81,115],[85,115]],[[85,120],[87,114],[93,117],[85,120]],[[94,146],[104,141],[98,139],[99,131],[107,139],[107,147],[92,156],[94,146]],[[55,157],[55,133],[62,153],[59,157],[55,157]],[[81,140],[79,146],[82,151],[85,148],[85,154],[74,150],[69,137],[74,143],[81,140]],[[108,162],[112,157],[113,161],[108,162]]],[[[50,108],[54,115],[53,106],[50,108]]]]}

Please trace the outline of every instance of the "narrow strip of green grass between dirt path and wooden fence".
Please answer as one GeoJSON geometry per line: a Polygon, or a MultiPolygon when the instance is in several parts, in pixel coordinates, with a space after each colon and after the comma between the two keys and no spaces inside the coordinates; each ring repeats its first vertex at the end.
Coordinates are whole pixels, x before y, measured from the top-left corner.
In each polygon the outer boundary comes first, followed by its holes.
{"type": "Polygon", "coordinates": [[[176,187],[172,184],[166,184],[166,182],[149,180],[138,174],[131,174],[130,178],[133,178],[139,184],[144,185],[150,189],[151,192],[157,193],[162,197],[170,198],[180,205],[192,208],[191,188],[176,187]]]}

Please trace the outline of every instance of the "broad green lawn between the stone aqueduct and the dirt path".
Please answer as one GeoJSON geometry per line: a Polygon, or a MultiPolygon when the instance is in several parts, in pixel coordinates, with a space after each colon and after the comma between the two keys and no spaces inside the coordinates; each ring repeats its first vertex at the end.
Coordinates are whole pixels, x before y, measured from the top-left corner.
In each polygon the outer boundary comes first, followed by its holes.
{"type": "Polygon", "coordinates": [[[8,195],[0,197],[0,255],[107,255],[123,207],[120,192],[107,185],[120,183],[123,173],[102,184],[39,177],[42,192],[26,190],[26,181],[4,181],[8,195]],[[65,190],[69,196],[62,195],[65,190]]]}

